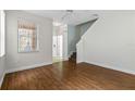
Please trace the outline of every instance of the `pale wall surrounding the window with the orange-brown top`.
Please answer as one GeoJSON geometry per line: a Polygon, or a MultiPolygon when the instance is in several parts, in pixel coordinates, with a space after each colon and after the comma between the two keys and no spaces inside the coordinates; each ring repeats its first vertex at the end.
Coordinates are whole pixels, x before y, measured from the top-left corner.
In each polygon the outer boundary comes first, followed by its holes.
{"type": "Polygon", "coordinates": [[[23,11],[7,11],[7,70],[14,72],[52,63],[52,21],[23,11]],[[39,26],[39,51],[17,52],[17,20],[24,18],[39,26]]]}

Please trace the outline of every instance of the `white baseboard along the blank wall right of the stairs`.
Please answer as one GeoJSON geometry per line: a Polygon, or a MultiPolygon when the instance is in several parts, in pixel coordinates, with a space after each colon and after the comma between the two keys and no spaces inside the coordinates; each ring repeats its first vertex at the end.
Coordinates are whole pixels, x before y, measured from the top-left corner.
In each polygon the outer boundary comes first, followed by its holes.
{"type": "Polygon", "coordinates": [[[89,61],[85,61],[85,62],[89,63],[89,64],[98,65],[98,66],[101,66],[101,67],[105,67],[105,68],[110,68],[110,70],[114,70],[114,71],[119,71],[119,72],[135,75],[135,71],[125,70],[125,68],[115,67],[115,66],[110,66],[110,65],[106,65],[106,64],[101,64],[101,63],[97,63],[97,62],[89,62],[89,61]]]}

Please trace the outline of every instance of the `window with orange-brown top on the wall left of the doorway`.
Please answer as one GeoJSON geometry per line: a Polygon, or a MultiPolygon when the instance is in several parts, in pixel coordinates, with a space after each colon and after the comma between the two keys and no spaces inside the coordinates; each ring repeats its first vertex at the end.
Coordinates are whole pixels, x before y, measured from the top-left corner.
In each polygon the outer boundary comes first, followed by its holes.
{"type": "Polygon", "coordinates": [[[19,21],[19,52],[37,51],[37,27],[34,23],[19,21]]]}

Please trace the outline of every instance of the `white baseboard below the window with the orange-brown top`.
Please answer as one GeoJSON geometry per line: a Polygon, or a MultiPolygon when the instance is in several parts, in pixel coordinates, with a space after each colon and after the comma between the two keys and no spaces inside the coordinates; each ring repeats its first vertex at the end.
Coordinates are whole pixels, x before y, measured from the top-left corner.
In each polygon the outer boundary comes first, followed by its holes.
{"type": "Polygon", "coordinates": [[[45,62],[45,63],[40,63],[40,64],[34,64],[34,65],[29,65],[29,66],[22,66],[22,67],[17,67],[17,68],[7,70],[5,73],[13,73],[13,72],[19,72],[19,71],[29,70],[29,68],[36,68],[36,67],[40,67],[40,66],[49,65],[49,64],[52,64],[52,62],[45,62]]]}

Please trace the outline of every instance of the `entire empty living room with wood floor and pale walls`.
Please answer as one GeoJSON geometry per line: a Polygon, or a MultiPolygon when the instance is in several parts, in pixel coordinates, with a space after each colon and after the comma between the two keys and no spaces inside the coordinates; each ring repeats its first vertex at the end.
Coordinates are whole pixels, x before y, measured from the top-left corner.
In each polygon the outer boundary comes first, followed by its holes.
{"type": "Polygon", "coordinates": [[[0,12],[1,90],[135,89],[135,11],[0,12]]]}

